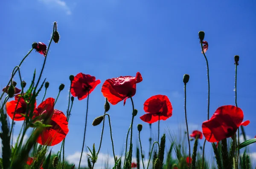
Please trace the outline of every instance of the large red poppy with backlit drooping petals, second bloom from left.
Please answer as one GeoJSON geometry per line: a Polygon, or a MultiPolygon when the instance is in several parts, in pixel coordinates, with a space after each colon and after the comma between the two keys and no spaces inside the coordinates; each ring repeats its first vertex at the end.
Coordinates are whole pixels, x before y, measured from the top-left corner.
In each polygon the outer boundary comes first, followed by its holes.
{"type": "Polygon", "coordinates": [[[52,125],[52,127],[45,128],[38,137],[37,142],[41,145],[54,146],[59,144],[69,131],[67,117],[62,111],[54,109],[54,101],[55,99],[48,98],[39,104],[34,111],[35,117],[46,115],[51,118],[49,125],[52,125]]]}

